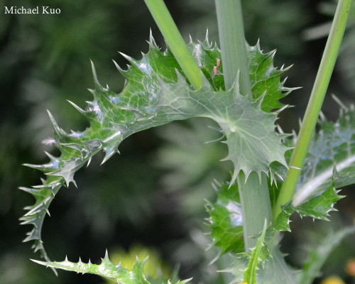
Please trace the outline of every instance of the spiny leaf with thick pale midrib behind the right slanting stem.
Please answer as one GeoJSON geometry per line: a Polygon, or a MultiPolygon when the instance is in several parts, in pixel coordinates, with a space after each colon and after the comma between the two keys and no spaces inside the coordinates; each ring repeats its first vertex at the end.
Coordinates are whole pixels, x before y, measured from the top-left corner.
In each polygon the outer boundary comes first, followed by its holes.
{"type": "MultiPolygon", "coordinates": [[[[341,104],[342,105],[342,104],[341,104]]],[[[339,120],[331,123],[322,118],[302,169],[293,201],[283,204],[275,229],[290,231],[289,217],[328,220],[334,204],[342,199],[340,187],[355,182],[355,110],[343,109],[339,120]]]]}

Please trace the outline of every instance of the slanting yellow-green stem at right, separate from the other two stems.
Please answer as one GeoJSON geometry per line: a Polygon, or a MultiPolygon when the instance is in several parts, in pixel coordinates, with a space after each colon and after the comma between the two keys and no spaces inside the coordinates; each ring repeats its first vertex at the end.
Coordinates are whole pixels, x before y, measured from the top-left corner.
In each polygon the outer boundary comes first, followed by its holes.
{"type": "Polygon", "coordinates": [[[320,109],[322,108],[327,92],[329,80],[332,76],[335,61],[337,60],[340,43],[342,43],[351,2],[352,0],[339,0],[338,2],[337,11],[335,12],[327,44],[325,45],[310,101],[308,102],[295,150],[290,160],[290,169],[286,175],[285,182],[283,182],[283,187],[281,187],[278,201],[273,209],[274,220],[281,212],[281,205],[292,200],[295,193],[295,188],[300,178],[300,173],[317,124],[320,109]]]}

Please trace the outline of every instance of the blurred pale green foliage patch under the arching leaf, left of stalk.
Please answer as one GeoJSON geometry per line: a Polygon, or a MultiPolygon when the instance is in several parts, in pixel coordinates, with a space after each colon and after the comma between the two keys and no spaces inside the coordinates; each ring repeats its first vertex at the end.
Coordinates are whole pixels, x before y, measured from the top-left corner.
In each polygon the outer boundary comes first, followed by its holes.
{"type": "Polygon", "coordinates": [[[211,183],[229,178],[232,167],[219,163],[227,155],[222,143],[215,143],[222,133],[214,131],[217,124],[208,119],[190,119],[157,129],[163,143],[158,148],[156,166],[166,173],[160,182],[168,191],[180,191],[182,210],[187,216],[201,216],[205,200],[214,199],[211,183]],[[226,175],[227,174],[227,175],[226,175]],[[202,198],[201,198],[202,197],[202,198]]]}

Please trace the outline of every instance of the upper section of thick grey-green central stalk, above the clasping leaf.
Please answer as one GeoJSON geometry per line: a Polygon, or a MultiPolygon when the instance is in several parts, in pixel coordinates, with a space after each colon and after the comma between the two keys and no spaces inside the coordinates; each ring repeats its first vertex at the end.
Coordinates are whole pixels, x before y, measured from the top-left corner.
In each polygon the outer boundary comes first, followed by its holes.
{"type": "Polygon", "coordinates": [[[241,1],[216,0],[215,4],[225,87],[233,86],[239,72],[241,94],[251,95],[241,1]]]}

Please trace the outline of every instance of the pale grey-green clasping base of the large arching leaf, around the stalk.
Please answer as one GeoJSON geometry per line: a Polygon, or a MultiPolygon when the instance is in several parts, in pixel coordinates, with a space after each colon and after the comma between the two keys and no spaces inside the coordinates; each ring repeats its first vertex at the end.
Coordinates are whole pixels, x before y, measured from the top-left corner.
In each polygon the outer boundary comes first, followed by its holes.
{"type": "Polygon", "coordinates": [[[281,143],[285,136],[275,132],[277,114],[262,111],[261,99],[250,102],[242,96],[238,81],[228,91],[213,92],[206,81],[201,89],[192,91],[178,77],[174,85],[161,82],[161,92],[166,95],[158,99],[156,118],[165,116],[166,120],[173,121],[202,116],[216,121],[229,149],[224,160],[234,164],[231,183],[240,170],[247,178],[252,171],[268,174],[273,161],[286,165],[284,154],[288,148],[281,143]]]}

